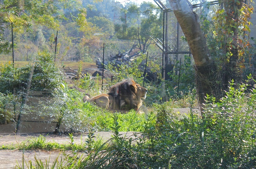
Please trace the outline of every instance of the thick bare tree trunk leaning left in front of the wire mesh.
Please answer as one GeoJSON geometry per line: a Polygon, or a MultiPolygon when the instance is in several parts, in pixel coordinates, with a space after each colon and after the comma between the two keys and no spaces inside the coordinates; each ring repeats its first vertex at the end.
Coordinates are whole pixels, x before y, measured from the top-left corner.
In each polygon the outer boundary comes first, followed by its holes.
{"type": "Polygon", "coordinates": [[[195,60],[196,90],[202,108],[207,94],[219,100],[220,76],[204,39],[197,14],[190,9],[186,0],[170,0],[170,3],[195,60]]]}

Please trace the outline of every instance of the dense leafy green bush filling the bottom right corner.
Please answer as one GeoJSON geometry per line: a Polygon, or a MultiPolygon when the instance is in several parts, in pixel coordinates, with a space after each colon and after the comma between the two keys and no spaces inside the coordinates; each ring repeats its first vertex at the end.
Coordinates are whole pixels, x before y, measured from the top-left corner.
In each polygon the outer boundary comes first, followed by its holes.
{"type": "Polygon", "coordinates": [[[156,131],[138,156],[141,164],[149,168],[255,167],[256,90],[245,93],[246,88],[242,84],[235,89],[231,84],[219,103],[208,97],[203,119],[192,109],[180,119],[160,106],[156,131]]]}

